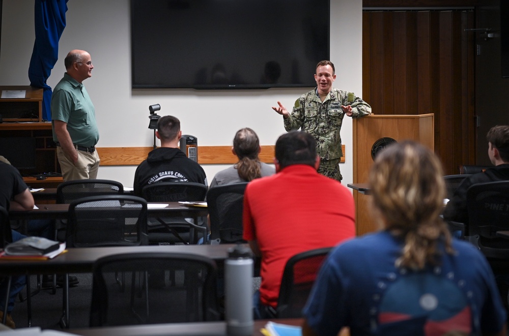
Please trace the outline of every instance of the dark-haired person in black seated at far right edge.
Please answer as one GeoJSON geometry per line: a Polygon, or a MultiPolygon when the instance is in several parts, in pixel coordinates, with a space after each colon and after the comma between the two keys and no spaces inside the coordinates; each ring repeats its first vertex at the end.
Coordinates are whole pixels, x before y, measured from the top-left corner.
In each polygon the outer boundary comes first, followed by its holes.
{"type": "Polygon", "coordinates": [[[446,221],[455,221],[468,225],[467,190],[472,185],[484,182],[509,180],[509,126],[495,126],[486,136],[488,156],[494,167],[482,173],[465,178],[447,202],[443,217],[446,221]]]}

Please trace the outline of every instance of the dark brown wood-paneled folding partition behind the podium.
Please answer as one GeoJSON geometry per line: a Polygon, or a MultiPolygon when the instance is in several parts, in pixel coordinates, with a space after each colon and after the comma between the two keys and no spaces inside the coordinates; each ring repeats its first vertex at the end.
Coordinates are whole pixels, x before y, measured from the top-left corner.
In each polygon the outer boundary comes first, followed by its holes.
{"type": "Polygon", "coordinates": [[[362,98],[375,114],[435,114],[446,174],[475,162],[472,10],[363,12],[362,98]]]}

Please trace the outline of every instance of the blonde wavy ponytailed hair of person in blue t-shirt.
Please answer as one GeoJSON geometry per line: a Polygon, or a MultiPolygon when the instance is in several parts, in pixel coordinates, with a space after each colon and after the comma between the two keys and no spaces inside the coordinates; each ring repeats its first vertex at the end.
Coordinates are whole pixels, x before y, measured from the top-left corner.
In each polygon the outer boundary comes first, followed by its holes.
{"type": "Polygon", "coordinates": [[[442,165],[431,150],[413,141],[389,145],[377,156],[369,182],[385,229],[404,240],[397,267],[439,264],[439,241],[447,253],[454,252],[439,217],[445,196],[442,165]]]}

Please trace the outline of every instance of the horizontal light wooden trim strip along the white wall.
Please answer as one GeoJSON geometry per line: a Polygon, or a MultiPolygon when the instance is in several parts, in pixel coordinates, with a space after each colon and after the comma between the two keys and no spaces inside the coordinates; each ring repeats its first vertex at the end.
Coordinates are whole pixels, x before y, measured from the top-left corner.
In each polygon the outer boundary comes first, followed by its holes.
{"type": "MultiPolygon", "coordinates": [[[[262,146],[260,161],[273,163],[275,146],[262,146]]],[[[345,163],[345,145],[342,145],[345,163]]],[[[97,152],[101,158],[101,166],[137,166],[153,147],[98,147],[97,152]]],[[[232,146],[199,146],[198,163],[201,165],[235,164],[237,157],[232,153],[232,146]]]]}

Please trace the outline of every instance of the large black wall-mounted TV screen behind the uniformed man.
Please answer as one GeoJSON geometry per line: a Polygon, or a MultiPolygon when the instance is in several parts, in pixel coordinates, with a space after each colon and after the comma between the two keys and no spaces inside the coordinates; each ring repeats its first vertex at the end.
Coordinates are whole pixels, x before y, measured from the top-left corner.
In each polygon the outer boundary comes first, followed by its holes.
{"type": "Polygon", "coordinates": [[[131,0],[133,88],[313,87],[329,0],[131,0]]]}

